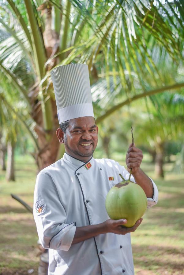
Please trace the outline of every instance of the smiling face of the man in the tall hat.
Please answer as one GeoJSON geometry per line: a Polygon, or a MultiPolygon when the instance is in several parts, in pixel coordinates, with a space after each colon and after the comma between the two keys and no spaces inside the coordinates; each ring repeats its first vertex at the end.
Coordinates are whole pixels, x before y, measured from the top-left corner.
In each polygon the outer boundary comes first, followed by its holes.
{"type": "Polygon", "coordinates": [[[92,156],[98,142],[98,127],[92,116],[71,119],[63,137],[65,150],[84,162],[92,156]]]}

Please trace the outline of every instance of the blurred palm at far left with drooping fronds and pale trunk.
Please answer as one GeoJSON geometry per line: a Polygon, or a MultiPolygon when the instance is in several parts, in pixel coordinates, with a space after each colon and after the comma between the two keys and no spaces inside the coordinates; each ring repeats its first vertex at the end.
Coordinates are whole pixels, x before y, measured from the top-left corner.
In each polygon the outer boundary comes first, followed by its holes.
{"type": "MultiPolygon", "coordinates": [[[[0,133],[2,140],[2,149],[7,145],[7,168],[6,179],[8,181],[15,181],[14,171],[14,150],[19,140],[23,143],[22,137],[25,136],[25,132],[32,138],[35,148],[38,149],[36,141],[36,133],[33,130],[33,121],[29,116],[25,107],[24,101],[17,101],[16,93],[14,90],[12,93],[12,85],[5,76],[0,74],[1,86],[0,86],[0,133]],[[6,95],[6,96],[5,96],[6,95]]],[[[4,162],[5,166],[5,162],[4,162]]],[[[5,169],[4,169],[5,170],[5,169]]]]}

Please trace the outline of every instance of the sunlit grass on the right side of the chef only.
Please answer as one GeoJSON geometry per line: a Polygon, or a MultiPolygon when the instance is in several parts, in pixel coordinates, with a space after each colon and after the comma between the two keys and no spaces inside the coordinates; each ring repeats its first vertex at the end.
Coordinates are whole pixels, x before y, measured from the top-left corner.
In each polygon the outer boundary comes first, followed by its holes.
{"type": "Polygon", "coordinates": [[[183,174],[169,172],[164,180],[155,180],[159,202],[132,233],[135,274],[184,274],[183,181],[183,174]]]}

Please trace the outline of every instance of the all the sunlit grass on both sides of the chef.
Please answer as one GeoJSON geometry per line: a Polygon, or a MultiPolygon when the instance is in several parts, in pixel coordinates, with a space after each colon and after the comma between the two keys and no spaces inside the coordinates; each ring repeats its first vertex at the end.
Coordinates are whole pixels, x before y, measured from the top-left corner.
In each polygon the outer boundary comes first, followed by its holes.
{"type": "MultiPolygon", "coordinates": [[[[121,156],[113,156],[121,162],[121,156]]],[[[125,163],[121,162],[125,165],[125,163]]],[[[144,158],[142,169],[159,189],[159,202],[147,210],[141,226],[132,233],[136,275],[184,274],[184,174],[173,174],[165,165],[164,180],[154,178],[154,167],[144,158]]],[[[29,156],[16,160],[16,182],[6,182],[0,171],[0,274],[37,274],[39,256],[37,232],[31,213],[10,196],[16,194],[30,206],[36,179],[36,166],[29,156]]]]}

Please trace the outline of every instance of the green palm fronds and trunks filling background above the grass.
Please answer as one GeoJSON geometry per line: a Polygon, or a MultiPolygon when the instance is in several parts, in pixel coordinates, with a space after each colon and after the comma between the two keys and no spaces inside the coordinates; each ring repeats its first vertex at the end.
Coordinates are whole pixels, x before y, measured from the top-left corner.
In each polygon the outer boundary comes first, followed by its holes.
{"type": "Polygon", "coordinates": [[[38,170],[62,157],[50,70],[71,62],[88,64],[100,127],[97,156],[126,152],[133,126],[135,143],[150,154],[158,177],[171,155],[179,155],[175,169],[182,171],[182,0],[0,2],[0,143],[7,179],[15,179],[14,150],[29,152],[38,170]]]}

